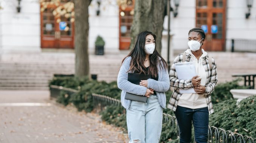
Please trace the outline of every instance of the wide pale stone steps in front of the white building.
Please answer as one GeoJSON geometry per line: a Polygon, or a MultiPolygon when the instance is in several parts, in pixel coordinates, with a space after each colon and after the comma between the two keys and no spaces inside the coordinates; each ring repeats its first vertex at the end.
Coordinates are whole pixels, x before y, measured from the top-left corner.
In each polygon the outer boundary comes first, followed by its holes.
{"type": "MultiPolygon", "coordinates": [[[[256,72],[255,53],[210,52],[217,62],[218,83],[231,81],[236,73],[256,72]]],[[[99,81],[116,81],[125,54],[89,55],[90,74],[99,81]]],[[[172,61],[171,61],[172,63],[172,61]]],[[[44,90],[53,74],[74,74],[74,53],[3,54],[0,90],[44,90]]]]}

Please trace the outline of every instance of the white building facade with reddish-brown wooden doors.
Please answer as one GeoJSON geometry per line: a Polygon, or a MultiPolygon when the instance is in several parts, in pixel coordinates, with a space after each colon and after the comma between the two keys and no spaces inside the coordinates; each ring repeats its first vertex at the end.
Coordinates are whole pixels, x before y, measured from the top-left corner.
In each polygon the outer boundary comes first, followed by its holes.
{"type": "MultiPolygon", "coordinates": [[[[63,3],[69,0],[63,0],[63,3]]],[[[89,6],[89,52],[94,53],[98,35],[105,40],[105,53],[118,54],[130,44],[134,2],[123,9],[117,0],[93,0],[89,6]],[[100,4],[98,3],[100,2],[100,4]]],[[[248,0],[250,1],[250,0],[248,0]]],[[[248,13],[247,0],[179,0],[177,16],[171,12],[171,57],[188,48],[187,35],[193,27],[206,33],[207,51],[231,51],[231,39],[256,40],[256,1],[248,13]]],[[[129,0],[128,0],[129,2],[129,0]]],[[[39,0],[0,0],[0,53],[39,53],[42,49],[73,49],[74,23],[56,19],[48,6],[41,11],[39,0]],[[17,11],[20,7],[20,12],[17,11]],[[66,28],[68,27],[68,28],[66,28]]],[[[171,7],[175,9],[174,0],[171,7]]],[[[164,20],[162,55],[167,56],[168,18],[164,20]]]]}

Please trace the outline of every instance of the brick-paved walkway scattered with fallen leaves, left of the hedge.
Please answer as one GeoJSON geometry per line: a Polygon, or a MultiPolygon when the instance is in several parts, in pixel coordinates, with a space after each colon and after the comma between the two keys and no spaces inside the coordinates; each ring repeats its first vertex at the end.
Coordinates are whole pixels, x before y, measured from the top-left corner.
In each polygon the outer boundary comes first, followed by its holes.
{"type": "Polygon", "coordinates": [[[0,90],[0,143],[124,143],[98,114],[49,100],[49,91],[0,90]]]}

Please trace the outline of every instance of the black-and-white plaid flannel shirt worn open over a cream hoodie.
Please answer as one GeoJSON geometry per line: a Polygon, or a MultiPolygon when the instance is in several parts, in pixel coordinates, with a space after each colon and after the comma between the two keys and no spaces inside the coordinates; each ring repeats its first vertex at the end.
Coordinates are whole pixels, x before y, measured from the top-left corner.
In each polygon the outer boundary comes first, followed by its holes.
{"type": "MultiPolygon", "coordinates": [[[[191,55],[186,53],[186,62],[190,62],[191,60],[191,55]]],[[[192,60],[193,61],[193,58],[192,60]]],[[[182,93],[179,92],[179,89],[188,89],[192,88],[192,81],[190,80],[179,80],[177,78],[177,73],[175,71],[175,66],[174,64],[177,62],[182,62],[182,54],[177,56],[173,62],[173,65],[171,66],[170,69],[170,86],[174,87],[173,94],[171,95],[171,99],[167,105],[167,108],[172,109],[173,111],[176,111],[178,101],[182,93]]],[[[214,112],[213,110],[213,104],[211,102],[211,93],[216,87],[217,84],[217,68],[216,68],[216,62],[212,58],[212,65],[211,65],[211,70],[210,70],[210,65],[208,61],[208,55],[203,57],[203,66],[206,72],[206,84],[205,84],[205,98],[207,101],[207,106],[208,106],[208,111],[209,114],[212,114],[214,112]]]]}

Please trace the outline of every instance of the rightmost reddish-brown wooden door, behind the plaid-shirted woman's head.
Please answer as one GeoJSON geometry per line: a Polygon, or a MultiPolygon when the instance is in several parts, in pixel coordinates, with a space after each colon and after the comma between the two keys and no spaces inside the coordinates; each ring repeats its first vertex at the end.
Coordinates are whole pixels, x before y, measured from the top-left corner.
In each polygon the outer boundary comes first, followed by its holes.
{"type": "Polygon", "coordinates": [[[196,27],[205,31],[207,51],[225,50],[225,11],[226,0],[196,0],[196,27]]]}

